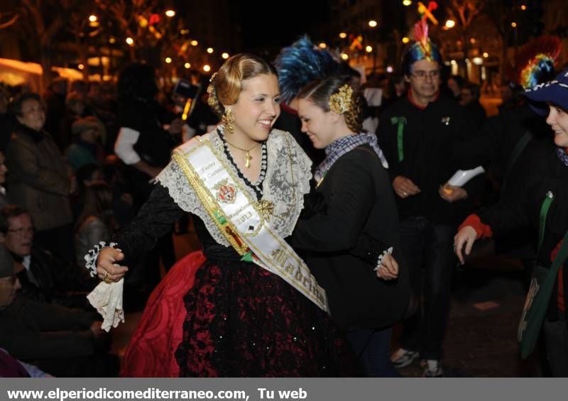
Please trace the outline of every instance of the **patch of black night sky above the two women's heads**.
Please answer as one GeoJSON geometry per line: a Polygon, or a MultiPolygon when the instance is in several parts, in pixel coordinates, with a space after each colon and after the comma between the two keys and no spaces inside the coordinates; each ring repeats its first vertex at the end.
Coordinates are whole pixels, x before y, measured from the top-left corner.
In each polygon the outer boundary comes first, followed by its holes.
{"type": "Polygon", "coordinates": [[[244,50],[279,49],[302,33],[311,33],[315,23],[328,21],[326,0],[243,1],[241,21],[244,50]]]}

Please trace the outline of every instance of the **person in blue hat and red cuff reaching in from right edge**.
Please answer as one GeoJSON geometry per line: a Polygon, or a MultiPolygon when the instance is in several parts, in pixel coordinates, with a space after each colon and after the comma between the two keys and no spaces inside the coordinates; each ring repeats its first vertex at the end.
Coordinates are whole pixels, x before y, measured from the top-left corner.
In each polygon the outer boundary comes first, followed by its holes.
{"type": "Polygon", "coordinates": [[[532,237],[537,238],[536,261],[518,337],[526,357],[543,326],[546,356],[555,377],[568,376],[567,87],[568,70],[564,70],[552,81],[527,89],[525,96],[537,102],[537,111],[542,115],[548,112],[546,122],[553,135],[525,153],[517,196],[504,197],[498,204],[471,214],[454,238],[454,248],[463,263],[464,255],[479,238],[503,236],[523,226],[538,234],[532,237]],[[540,314],[535,307],[540,308],[540,314]]]}

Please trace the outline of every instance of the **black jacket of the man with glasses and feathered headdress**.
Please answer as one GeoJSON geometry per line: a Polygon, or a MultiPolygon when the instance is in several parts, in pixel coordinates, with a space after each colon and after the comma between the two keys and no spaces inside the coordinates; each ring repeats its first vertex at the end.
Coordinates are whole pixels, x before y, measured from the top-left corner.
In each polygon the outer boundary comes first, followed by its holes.
{"type": "Polygon", "coordinates": [[[424,216],[435,224],[456,224],[471,209],[471,199],[483,189],[481,175],[464,185],[469,199],[449,203],[439,196],[438,189],[457,170],[476,167],[476,160],[464,142],[473,130],[468,124],[464,111],[444,94],[430,102],[425,109],[419,109],[408,97],[403,97],[379,120],[377,136],[381,149],[388,160],[391,182],[398,175],[412,180],[420,188],[420,194],[402,199],[396,197],[400,219],[410,216],[424,216]],[[403,117],[403,160],[398,154],[398,123],[393,119],[403,117]]]}

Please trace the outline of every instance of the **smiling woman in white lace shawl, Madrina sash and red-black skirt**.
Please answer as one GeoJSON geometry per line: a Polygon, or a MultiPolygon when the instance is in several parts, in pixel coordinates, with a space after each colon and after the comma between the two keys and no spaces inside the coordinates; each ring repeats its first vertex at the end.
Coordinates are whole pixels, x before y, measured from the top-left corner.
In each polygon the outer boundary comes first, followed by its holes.
{"type": "Polygon", "coordinates": [[[111,291],[124,266],[136,265],[184,211],[202,243],[153,292],[121,374],[356,374],[324,290],[283,240],[310,192],[311,163],[289,133],[272,127],[280,114],[274,68],[234,55],[207,90],[222,125],[175,150],[136,220],[113,239],[116,248],[89,253],[101,289],[111,291]],[[199,154],[202,160],[192,157],[199,154]],[[158,336],[149,329],[156,324],[158,336]]]}

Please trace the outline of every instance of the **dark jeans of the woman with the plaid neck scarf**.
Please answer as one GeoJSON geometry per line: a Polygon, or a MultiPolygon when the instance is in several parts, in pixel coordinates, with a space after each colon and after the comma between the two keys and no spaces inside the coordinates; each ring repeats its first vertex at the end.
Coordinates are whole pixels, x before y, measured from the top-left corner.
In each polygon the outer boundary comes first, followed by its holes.
{"type": "Polygon", "coordinates": [[[388,358],[391,329],[357,329],[347,331],[347,339],[355,351],[359,366],[368,378],[400,378],[388,358]]]}

